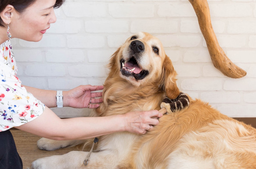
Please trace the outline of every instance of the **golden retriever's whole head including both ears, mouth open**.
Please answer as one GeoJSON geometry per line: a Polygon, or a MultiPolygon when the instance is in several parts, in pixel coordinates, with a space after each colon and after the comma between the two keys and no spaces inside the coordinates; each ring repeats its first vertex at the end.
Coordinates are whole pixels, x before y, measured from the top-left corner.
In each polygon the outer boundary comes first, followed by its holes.
{"type": "Polygon", "coordinates": [[[134,87],[155,84],[166,92],[170,99],[175,99],[180,91],[176,84],[176,71],[156,37],[139,32],[132,35],[113,54],[110,61],[112,74],[119,76],[134,87]]]}

